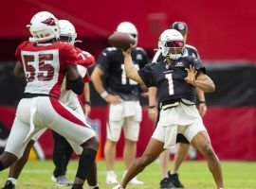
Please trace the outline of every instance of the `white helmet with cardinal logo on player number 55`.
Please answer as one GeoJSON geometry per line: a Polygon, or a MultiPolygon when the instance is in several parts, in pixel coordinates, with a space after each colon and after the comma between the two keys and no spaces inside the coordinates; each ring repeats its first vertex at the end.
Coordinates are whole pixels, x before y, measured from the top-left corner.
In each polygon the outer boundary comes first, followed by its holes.
{"type": "Polygon", "coordinates": [[[58,19],[50,12],[41,11],[36,13],[30,25],[27,25],[35,42],[47,42],[52,39],[59,39],[60,27],[58,19]]]}

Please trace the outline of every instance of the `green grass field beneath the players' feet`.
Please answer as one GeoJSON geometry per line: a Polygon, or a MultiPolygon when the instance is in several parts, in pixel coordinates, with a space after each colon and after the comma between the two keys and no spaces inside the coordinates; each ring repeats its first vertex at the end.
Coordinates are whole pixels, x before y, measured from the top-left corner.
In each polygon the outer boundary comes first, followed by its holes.
{"type": "MultiPolygon", "coordinates": [[[[256,162],[223,162],[223,173],[226,189],[256,189],[256,162]]],[[[68,167],[68,178],[71,180],[76,173],[77,162],[72,161],[68,167]]],[[[51,182],[53,163],[50,161],[27,163],[17,189],[50,189],[58,187],[51,182]]],[[[123,163],[116,163],[117,174],[121,179],[123,173],[123,163]]],[[[206,162],[187,161],[180,168],[180,180],[187,189],[214,189],[216,188],[208,171],[206,162]]],[[[113,186],[105,184],[105,164],[99,163],[99,182],[101,189],[111,189],[113,186]]],[[[8,176],[8,171],[0,173],[0,186],[2,186],[8,176]]],[[[129,189],[157,189],[159,188],[159,164],[152,163],[144,172],[138,175],[140,180],[145,181],[142,186],[128,185],[129,189]]],[[[69,187],[62,187],[62,189],[69,187]]],[[[86,186],[84,187],[86,188],[86,186]]]]}

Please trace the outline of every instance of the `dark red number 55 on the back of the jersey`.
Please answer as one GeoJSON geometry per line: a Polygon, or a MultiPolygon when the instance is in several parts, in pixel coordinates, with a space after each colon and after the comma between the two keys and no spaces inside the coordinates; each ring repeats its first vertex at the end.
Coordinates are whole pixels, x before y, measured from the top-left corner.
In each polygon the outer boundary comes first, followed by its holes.
{"type": "Polygon", "coordinates": [[[24,55],[27,82],[31,82],[37,77],[39,81],[49,81],[53,78],[54,67],[50,65],[53,60],[52,54],[24,55]],[[37,76],[35,76],[37,73],[37,76]]]}

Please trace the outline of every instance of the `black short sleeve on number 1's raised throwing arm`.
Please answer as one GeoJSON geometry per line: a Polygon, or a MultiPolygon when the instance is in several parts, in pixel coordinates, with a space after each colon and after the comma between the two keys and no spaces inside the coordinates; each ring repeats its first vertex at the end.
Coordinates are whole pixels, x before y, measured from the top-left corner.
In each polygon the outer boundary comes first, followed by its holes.
{"type": "Polygon", "coordinates": [[[148,88],[155,87],[155,79],[153,77],[152,63],[145,65],[142,69],[138,70],[137,73],[148,88]]]}

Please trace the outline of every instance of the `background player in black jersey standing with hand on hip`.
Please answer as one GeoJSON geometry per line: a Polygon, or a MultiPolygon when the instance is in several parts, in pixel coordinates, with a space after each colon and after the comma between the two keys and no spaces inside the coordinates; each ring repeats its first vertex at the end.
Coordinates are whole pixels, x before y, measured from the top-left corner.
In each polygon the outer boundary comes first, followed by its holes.
{"type": "MultiPolygon", "coordinates": [[[[119,24],[116,31],[128,33],[135,38],[136,44],[134,44],[132,60],[137,69],[144,67],[148,63],[148,56],[142,48],[137,47],[136,26],[129,22],[123,22],[119,24]]],[[[113,184],[118,183],[114,162],[122,127],[125,135],[124,175],[136,158],[139,123],[142,117],[141,106],[138,101],[140,89],[136,81],[126,77],[121,50],[115,47],[104,49],[97,63],[91,77],[97,92],[109,104],[104,156],[107,166],[106,183],[113,184]],[[106,77],[107,89],[102,83],[104,76],[106,77]]],[[[143,182],[134,178],[130,183],[142,184],[143,182]]]]}

